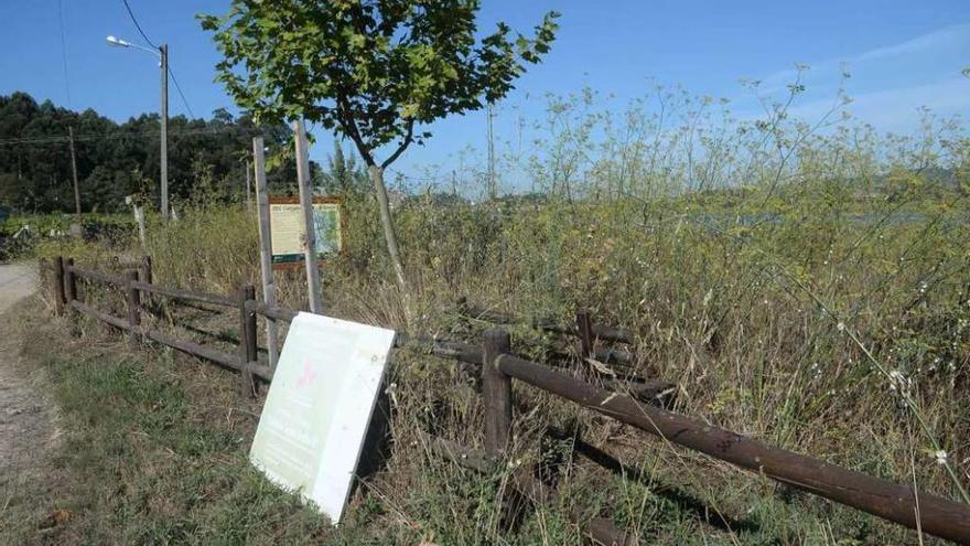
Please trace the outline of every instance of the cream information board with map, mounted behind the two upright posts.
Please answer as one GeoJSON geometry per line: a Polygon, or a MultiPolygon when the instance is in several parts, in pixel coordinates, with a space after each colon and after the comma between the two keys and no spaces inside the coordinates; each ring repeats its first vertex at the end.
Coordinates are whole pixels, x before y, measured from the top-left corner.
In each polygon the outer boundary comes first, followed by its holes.
{"type": "MultiPolygon", "coordinates": [[[[299,267],[303,263],[303,242],[306,234],[300,197],[270,196],[269,223],[273,267],[299,267]]],[[[341,197],[313,197],[313,224],[319,259],[344,250],[346,218],[341,197]]]]}

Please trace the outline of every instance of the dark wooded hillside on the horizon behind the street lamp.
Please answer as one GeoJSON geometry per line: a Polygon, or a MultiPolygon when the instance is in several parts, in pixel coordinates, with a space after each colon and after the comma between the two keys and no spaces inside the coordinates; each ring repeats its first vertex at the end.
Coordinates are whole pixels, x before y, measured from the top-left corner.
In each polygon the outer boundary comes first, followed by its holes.
{"type": "MultiPolygon", "coordinates": [[[[122,124],[88,108],[77,113],[37,101],[25,93],[0,95],[0,208],[20,213],[74,211],[68,128],[74,129],[77,176],[84,212],[117,212],[125,197],[158,204],[159,116],[142,114],[122,124]]],[[[285,126],[257,127],[248,114],[225,109],[211,119],[169,119],[169,188],[173,203],[245,199],[252,137],[263,135],[268,182],[277,193],[295,191],[292,133],[285,126]]],[[[332,158],[324,173],[311,164],[327,190],[357,188],[353,161],[332,158]]]]}

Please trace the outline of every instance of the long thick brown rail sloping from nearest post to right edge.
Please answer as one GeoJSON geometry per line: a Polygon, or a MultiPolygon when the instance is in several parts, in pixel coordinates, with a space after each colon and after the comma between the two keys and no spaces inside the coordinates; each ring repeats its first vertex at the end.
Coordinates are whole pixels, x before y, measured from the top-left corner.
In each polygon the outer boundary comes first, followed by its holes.
{"type": "Polygon", "coordinates": [[[862,510],[912,529],[970,542],[970,506],[847,470],[573,379],[547,366],[502,354],[502,374],[575,402],[593,411],[809,493],[862,510]],[[919,518],[917,521],[917,513],[919,518]]]}

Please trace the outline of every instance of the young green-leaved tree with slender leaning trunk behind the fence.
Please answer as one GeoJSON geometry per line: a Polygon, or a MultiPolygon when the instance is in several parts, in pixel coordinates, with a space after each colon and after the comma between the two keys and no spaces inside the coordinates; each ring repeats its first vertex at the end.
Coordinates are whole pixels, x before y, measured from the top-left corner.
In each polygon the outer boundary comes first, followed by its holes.
{"type": "Polygon", "coordinates": [[[505,23],[475,39],[478,0],[233,0],[224,17],[200,15],[224,60],[216,65],[236,103],[258,122],[300,117],[354,142],[374,184],[388,255],[407,280],[384,171],[419,129],[494,103],[549,51],[556,12],[534,38],[505,23]],[[379,161],[375,154],[392,144],[379,161]]]}

